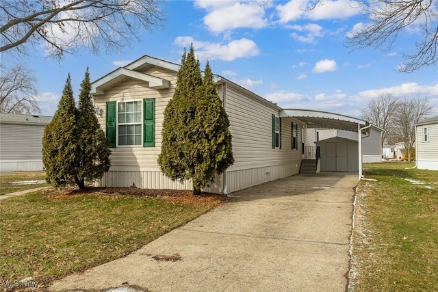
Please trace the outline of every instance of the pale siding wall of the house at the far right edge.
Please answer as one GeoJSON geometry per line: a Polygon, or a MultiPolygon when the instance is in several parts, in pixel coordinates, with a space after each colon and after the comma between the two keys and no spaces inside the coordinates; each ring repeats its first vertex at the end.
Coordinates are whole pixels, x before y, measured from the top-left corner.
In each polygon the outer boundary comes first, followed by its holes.
{"type": "Polygon", "coordinates": [[[438,170],[438,123],[417,126],[417,168],[438,170]],[[423,139],[423,129],[428,128],[428,141],[423,139]]]}

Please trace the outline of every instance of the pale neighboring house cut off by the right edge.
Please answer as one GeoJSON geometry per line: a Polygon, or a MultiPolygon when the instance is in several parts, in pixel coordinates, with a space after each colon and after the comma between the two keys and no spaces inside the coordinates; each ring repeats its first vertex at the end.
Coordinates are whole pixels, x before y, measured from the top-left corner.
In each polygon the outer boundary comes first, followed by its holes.
{"type": "Polygon", "coordinates": [[[438,116],[415,124],[417,168],[438,170],[438,116]]]}

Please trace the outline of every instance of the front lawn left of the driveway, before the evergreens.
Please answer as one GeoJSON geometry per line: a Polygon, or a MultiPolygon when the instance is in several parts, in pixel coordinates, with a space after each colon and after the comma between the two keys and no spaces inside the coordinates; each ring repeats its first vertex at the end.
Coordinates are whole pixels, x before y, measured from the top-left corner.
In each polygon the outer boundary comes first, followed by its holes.
{"type": "Polygon", "coordinates": [[[0,203],[0,280],[47,283],[112,261],[209,211],[188,200],[38,191],[0,203]]]}

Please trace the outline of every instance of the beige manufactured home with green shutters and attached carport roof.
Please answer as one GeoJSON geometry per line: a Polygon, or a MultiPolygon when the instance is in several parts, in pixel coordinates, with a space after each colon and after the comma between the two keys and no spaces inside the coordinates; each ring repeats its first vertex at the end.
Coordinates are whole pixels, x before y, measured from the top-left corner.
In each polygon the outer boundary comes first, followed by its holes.
{"type": "MultiPolygon", "coordinates": [[[[92,83],[96,113],[112,147],[112,166],[99,185],[192,189],[191,181],[171,181],[157,164],[164,109],[175,92],[178,70],[178,64],[144,56],[92,83]]],[[[218,75],[215,82],[229,116],[235,162],[204,191],[227,194],[298,174],[302,129],[311,124],[359,132],[369,128],[368,122],[342,115],[281,109],[218,75]]]]}

